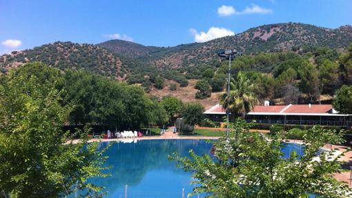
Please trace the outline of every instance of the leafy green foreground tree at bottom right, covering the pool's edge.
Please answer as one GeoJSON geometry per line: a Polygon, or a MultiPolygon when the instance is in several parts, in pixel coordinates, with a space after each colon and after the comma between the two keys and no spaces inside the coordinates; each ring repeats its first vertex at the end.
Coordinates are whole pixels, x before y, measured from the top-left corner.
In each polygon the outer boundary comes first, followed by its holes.
{"type": "Polygon", "coordinates": [[[183,170],[193,172],[191,195],[207,197],[349,197],[351,189],[331,175],[340,172],[341,155],[335,150],[320,152],[325,143],[341,143],[342,132],[315,126],[303,140],[304,154],[295,151],[284,158],[284,132],[264,137],[248,132],[248,123],[237,119],[231,124],[230,138],[213,143],[211,155],[199,156],[190,150],[190,157],[177,154],[170,158],[183,170]],[[334,158],[333,155],[339,157],[334,158]],[[331,158],[332,157],[332,158],[331,158]],[[320,161],[316,159],[319,158],[320,161]]]}

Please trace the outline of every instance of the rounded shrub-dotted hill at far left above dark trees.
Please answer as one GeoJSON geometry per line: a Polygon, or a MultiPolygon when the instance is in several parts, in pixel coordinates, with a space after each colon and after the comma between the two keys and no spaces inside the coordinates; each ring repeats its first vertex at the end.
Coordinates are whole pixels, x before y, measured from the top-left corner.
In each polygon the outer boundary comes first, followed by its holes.
{"type": "Polygon", "coordinates": [[[0,57],[0,68],[2,72],[7,72],[10,68],[32,61],[41,61],[61,70],[85,69],[108,77],[118,77],[124,70],[121,57],[105,48],[59,41],[3,55],[0,57]]]}

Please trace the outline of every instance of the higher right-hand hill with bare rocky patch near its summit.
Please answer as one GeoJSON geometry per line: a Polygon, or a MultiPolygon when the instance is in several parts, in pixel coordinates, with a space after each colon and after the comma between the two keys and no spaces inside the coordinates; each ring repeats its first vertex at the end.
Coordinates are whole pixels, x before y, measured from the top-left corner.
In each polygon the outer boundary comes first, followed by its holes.
{"type": "Polygon", "coordinates": [[[304,23],[277,23],[251,28],[234,36],[205,43],[190,43],[168,48],[146,47],[128,41],[106,41],[99,46],[121,55],[139,57],[159,68],[193,66],[216,59],[221,48],[237,49],[245,55],[260,52],[310,50],[316,47],[346,48],[352,43],[352,26],[336,29],[304,23]],[[141,53],[141,51],[144,51],[141,53]]]}

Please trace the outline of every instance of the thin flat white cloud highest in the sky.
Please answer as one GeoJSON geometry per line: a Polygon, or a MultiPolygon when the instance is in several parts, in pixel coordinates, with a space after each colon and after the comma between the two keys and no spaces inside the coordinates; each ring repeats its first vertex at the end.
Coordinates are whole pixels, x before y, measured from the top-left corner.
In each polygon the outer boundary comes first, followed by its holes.
{"type": "Polygon", "coordinates": [[[219,16],[230,16],[233,14],[270,14],[271,12],[273,12],[273,10],[262,8],[254,3],[252,3],[251,7],[246,7],[242,12],[235,10],[233,6],[221,6],[217,8],[217,14],[219,14],[219,16]]]}

